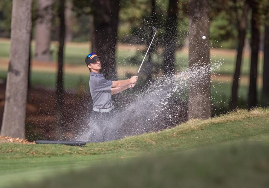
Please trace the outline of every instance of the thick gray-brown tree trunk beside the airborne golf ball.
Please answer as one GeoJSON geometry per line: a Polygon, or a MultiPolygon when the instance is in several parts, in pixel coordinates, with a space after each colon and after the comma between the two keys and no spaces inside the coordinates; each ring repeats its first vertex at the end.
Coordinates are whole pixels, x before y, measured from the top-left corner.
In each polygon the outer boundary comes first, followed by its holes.
{"type": "Polygon", "coordinates": [[[198,78],[189,80],[188,118],[206,119],[210,109],[210,44],[207,0],[189,1],[189,68],[198,70],[198,78]],[[206,39],[203,40],[202,36],[206,39]],[[204,67],[204,68],[201,68],[204,67]]]}

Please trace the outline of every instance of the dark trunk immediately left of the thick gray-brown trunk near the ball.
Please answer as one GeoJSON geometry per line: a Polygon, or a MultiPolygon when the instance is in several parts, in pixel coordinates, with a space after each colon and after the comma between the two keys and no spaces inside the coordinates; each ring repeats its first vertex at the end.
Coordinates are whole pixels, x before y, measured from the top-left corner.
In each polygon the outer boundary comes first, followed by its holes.
{"type": "Polygon", "coordinates": [[[177,43],[177,27],[178,27],[178,0],[169,0],[167,11],[166,27],[164,33],[164,61],[163,74],[171,74],[175,71],[175,50],[177,43]]]}

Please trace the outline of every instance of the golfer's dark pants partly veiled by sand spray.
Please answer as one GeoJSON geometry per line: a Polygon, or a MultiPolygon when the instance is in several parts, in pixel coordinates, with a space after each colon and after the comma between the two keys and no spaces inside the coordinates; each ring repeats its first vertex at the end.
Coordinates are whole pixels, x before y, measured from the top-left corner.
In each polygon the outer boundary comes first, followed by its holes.
{"type": "MultiPolygon", "coordinates": [[[[98,131],[94,132],[95,142],[104,142],[109,140],[109,122],[111,121],[114,114],[114,110],[110,112],[91,112],[91,122],[94,126],[98,126],[98,131]]],[[[91,125],[90,125],[91,126],[91,125]]]]}

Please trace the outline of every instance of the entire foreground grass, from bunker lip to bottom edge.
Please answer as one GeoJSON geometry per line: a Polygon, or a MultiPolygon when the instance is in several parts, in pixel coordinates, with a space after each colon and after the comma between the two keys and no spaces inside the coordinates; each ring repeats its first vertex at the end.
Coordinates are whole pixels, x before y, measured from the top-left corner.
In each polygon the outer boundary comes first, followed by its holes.
{"type": "Polygon", "coordinates": [[[265,187],[268,125],[257,108],[81,148],[1,143],[0,186],[265,187]]]}

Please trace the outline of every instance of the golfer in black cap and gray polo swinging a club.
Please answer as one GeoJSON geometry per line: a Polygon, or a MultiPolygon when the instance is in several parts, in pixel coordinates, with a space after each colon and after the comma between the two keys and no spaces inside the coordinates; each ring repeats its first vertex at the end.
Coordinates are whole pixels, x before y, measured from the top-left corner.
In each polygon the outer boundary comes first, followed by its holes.
{"type": "Polygon", "coordinates": [[[104,141],[107,130],[107,124],[112,117],[114,109],[111,95],[120,93],[128,88],[134,87],[137,82],[137,76],[132,76],[130,79],[112,81],[107,80],[100,73],[101,62],[100,56],[95,53],[90,53],[85,58],[85,63],[90,70],[90,92],[92,97],[92,113],[91,119],[100,125],[100,132],[103,132],[101,140],[104,141]]]}

